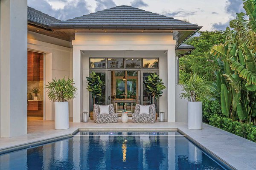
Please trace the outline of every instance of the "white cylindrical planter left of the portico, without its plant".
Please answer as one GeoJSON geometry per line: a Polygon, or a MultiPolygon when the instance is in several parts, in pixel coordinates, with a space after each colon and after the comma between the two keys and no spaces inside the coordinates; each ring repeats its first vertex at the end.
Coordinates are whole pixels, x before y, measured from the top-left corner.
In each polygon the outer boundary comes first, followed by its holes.
{"type": "Polygon", "coordinates": [[[69,128],[68,102],[54,102],[55,129],[69,128]]]}

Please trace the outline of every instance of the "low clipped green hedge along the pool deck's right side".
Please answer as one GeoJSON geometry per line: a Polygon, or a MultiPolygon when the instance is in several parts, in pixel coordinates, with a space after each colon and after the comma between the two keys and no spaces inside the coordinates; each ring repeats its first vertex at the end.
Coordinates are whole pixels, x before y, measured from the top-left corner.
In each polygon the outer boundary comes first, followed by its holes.
{"type": "Polygon", "coordinates": [[[253,123],[245,124],[215,114],[210,117],[209,125],[221,128],[230,133],[256,142],[256,126],[254,126],[253,123]]]}

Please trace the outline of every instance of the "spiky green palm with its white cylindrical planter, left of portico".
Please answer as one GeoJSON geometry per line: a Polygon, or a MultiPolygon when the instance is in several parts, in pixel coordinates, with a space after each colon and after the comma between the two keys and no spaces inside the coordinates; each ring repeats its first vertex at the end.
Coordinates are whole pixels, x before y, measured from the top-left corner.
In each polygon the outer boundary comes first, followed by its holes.
{"type": "Polygon", "coordinates": [[[75,98],[74,79],[52,79],[45,85],[50,101],[54,102],[55,129],[69,128],[68,101],[75,98]]]}

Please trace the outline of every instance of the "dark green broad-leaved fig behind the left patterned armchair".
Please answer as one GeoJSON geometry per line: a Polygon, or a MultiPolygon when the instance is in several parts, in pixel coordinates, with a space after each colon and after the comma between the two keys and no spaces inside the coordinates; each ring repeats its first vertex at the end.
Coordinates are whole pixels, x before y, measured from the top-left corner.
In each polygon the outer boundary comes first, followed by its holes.
{"type": "Polygon", "coordinates": [[[105,85],[105,82],[103,82],[100,77],[92,71],[90,74],[90,77],[86,77],[87,79],[87,90],[91,92],[93,96],[93,105],[95,104],[95,98],[102,98],[102,88],[105,85]]]}

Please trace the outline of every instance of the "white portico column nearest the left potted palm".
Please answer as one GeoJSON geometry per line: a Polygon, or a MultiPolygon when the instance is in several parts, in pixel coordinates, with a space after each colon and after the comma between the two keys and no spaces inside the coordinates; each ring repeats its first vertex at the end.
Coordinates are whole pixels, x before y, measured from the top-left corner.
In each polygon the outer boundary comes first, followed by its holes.
{"type": "Polygon", "coordinates": [[[81,81],[81,51],[73,45],[73,79],[75,81],[76,98],[73,99],[73,122],[81,122],[82,112],[82,81],[81,81]]]}

